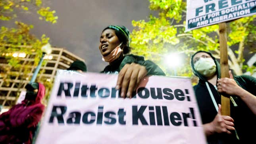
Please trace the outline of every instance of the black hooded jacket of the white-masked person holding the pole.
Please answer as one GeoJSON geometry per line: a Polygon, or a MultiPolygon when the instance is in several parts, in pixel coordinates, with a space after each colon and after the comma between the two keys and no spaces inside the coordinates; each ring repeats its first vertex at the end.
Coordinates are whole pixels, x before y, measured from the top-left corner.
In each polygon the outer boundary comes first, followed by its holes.
{"type": "MultiPolygon", "coordinates": [[[[204,52],[204,51],[202,51],[204,52]]],[[[206,52],[208,53],[208,52],[206,52]]],[[[208,53],[210,54],[210,53],[208,53]]],[[[210,54],[212,56],[212,54],[210,54]]],[[[194,92],[196,95],[196,100],[198,102],[198,107],[200,110],[200,114],[202,117],[202,123],[210,123],[214,120],[215,116],[217,115],[217,111],[214,107],[212,99],[210,97],[209,91],[206,87],[206,82],[210,86],[210,90],[214,95],[214,99],[216,100],[217,104],[221,104],[221,95],[218,93],[214,85],[209,83],[207,79],[198,73],[194,69],[194,64],[192,62],[194,55],[191,57],[191,68],[197,77],[199,77],[199,82],[196,86],[194,86],[194,92]]],[[[216,74],[218,78],[220,78],[220,65],[218,61],[212,56],[214,59],[217,67],[216,67],[216,74]]],[[[247,90],[248,92],[252,93],[256,96],[256,78],[242,75],[242,76],[234,76],[235,81],[239,86],[243,89],[247,90]]],[[[207,138],[209,143],[221,143],[221,144],[234,144],[234,143],[242,143],[247,144],[248,142],[254,142],[254,136],[256,131],[256,116],[252,111],[248,108],[248,106],[241,100],[238,96],[232,96],[235,100],[237,106],[235,107],[233,102],[230,101],[231,107],[231,117],[234,119],[235,129],[237,134],[240,138],[238,141],[235,132],[233,135],[228,134],[214,134],[207,138]]]]}

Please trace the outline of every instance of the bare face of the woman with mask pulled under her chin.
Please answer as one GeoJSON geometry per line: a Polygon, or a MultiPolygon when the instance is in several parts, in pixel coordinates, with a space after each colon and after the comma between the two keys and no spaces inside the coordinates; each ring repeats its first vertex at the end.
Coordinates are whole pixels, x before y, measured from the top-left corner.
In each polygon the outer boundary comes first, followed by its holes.
{"type": "Polygon", "coordinates": [[[120,44],[113,29],[106,29],[100,36],[99,49],[102,56],[108,56],[120,44]]]}

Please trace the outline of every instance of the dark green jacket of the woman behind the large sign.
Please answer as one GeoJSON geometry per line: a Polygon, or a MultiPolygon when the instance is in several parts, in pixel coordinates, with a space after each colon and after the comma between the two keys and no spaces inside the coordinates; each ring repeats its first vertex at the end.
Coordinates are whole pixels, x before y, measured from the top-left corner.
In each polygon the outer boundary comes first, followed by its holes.
{"type": "Polygon", "coordinates": [[[158,67],[155,63],[150,60],[144,60],[142,56],[135,56],[133,54],[129,54],[115,60],[111,65],[105,67],[102,73],[119,73],[123,66],[127,63],[138,63],[146,67],[148,71],[148,75],[165,75],[164,71],[158,67]]]}

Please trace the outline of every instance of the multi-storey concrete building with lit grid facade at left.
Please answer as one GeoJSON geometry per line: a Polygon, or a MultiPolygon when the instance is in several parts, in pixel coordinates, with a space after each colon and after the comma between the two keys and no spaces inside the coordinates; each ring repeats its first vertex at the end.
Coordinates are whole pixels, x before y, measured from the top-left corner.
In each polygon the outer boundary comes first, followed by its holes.
{"type": "MultiPolygon", "coordinates": [[[[10,108],[15,104],[19,93],[26,90],[25,86],[29,83],[36,69],[36,66],[31,66],[34,64],[35,53],[31,55],[14,53],[11,55],[21,59],[21,67],[17,69],[8,66],[7,60],[3,57],[4,54],[0,55],[0,105],[3,108],[10,108]],[[4,72],[6,67],[10,67],[8,73],[4,72]],[[23,73],[24,71],[27,71],[26,75],[23,73]]],[[[37,80],[49,83],[53,83],[57,69],[67,69],[75,60],[85,61],[64,48],[52,48],[52,53],[44,56],[44,59],[47,60],[44,60],[45,64],[41,67],[37,80]]]]}

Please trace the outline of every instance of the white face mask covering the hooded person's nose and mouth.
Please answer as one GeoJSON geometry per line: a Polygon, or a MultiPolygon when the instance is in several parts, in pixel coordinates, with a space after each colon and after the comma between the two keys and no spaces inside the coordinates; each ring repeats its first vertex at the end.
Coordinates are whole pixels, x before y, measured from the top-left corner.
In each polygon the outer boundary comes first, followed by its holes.
{"type": "Polygon", "coordinates": [[[204,77],[211,77],[216,72],[216,64],[212,58],[199,58],[199,60],[194,63],[194,68],[204,77]]]}

